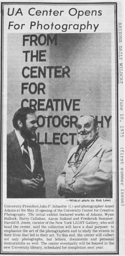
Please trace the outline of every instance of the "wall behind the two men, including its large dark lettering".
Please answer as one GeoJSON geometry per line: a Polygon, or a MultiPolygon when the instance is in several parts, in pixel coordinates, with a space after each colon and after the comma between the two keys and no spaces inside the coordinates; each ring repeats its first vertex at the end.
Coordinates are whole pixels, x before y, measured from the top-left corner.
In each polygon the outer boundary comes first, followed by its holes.
{"type": "Polygon", "coordinates": [[[17,109],[36,110],[46,196],[57,198],[77,119],[94,116],[111,141],[111,34],[8,34],[7,54],[7,132],[17,109]]]}

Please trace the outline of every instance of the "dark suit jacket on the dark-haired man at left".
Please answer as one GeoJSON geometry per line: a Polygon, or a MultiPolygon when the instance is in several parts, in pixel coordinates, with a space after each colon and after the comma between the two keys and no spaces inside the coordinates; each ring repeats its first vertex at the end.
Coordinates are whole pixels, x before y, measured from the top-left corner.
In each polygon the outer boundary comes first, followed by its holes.
{"type": "Polygon", "coordinates": [[[42,168],[40,145],[30,140],[34,157],[34,170],[29,171],[23,161],[22,150],[15,131],[7,134],[7,198],[44,198],[45,188],[37,191],[24,190],[21,180],[36,178],[41,174],[44,179],[42,168]]]}

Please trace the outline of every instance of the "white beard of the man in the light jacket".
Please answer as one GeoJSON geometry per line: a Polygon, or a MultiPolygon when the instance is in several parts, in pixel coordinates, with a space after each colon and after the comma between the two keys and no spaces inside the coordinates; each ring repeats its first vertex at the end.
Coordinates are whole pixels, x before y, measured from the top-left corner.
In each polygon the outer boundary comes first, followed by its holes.
{"type": "Polygon", "coordinates": [[[89,144],[93,140],[95,135],[96,134],[95,134],[94,131],[92,131],[92,132],[90,132],[89,134],[86,134],[86,135],[77,134],[77,139],[78,139],[78,142],[82,146],[85,146],[85,145],[89,144]]]}

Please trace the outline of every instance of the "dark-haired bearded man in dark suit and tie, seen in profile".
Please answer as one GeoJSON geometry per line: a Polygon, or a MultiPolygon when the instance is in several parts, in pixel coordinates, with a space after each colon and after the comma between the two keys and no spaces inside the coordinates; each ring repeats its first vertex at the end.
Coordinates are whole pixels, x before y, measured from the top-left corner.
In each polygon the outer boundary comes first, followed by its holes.
{"type": "Polygon", "coordinates": [[[35,111],[24,107],[13,119],[7,134],[7,198],[44,198],[45,182],[40,145],[36,143],[35,111]]]}

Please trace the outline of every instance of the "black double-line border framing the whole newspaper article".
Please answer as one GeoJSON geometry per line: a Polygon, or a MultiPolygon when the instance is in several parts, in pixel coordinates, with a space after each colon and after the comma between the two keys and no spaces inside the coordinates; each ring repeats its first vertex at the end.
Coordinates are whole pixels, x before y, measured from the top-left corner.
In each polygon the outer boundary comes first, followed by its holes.
{"type": "Polygon", "coordinates": [[[0,220],[0,255],[118,255],[119,254],[119,185],[118,185],[118,156],[119,156],[119,150],[118,150],[118,146],[119,146],[119,139],[118,139],[118,24],[117,24],[117,2],[1,2],[1,66],[0,66],[0,70],[1,70],[1,77],[0,77],[0,81],[1,81],[1,85],[0,85],[0,166],[1,166],[1,173],[0,173],[0,178],[1,178],[1,183],[0,183],[0,188],[1,188],[1,193],[0,193],[0,201],[2,202],[2,130],[3,130],[3,23],[4,23],[4,5],[114,5],[114,17],[115,17],[115,71],[116,71],[116,77],[115,77],[115,81],[116,81],[116,170],[117,170],[117,179],[116,179],[116,187],[117,187],[117,191],[116,191],[116,196],[117,196],[117,200],[116,200],[116,242],[117,242],[117,246],[116,246],[116,252],[107,252],[107,253],[95,253],[95,251],[93,253],[8,253],[7,252],[2,252],[2,203],[0,204],[0,216],[1,216],[1,220],[0,220]]]}

